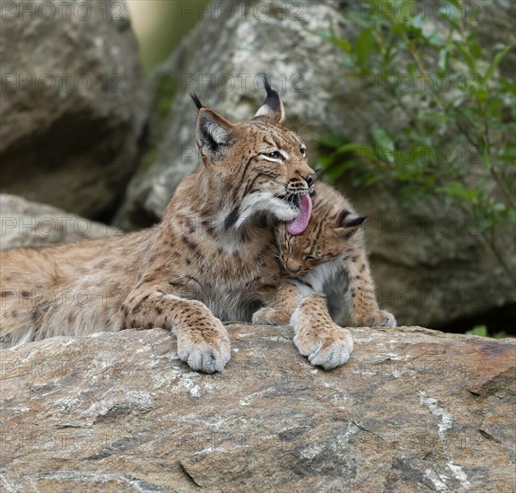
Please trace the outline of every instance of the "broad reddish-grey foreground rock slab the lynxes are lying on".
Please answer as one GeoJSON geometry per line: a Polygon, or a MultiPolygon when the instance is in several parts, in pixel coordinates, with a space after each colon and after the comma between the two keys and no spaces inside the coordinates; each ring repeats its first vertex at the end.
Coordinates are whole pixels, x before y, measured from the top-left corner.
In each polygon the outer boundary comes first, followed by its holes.
{"type": "Polygon", "coordinates": [[[326,372],[289,327],[228,329],[214,376],[161,329],[2,352],[1,488],[514,490],[514,341],[356,328],[326,372]]]}

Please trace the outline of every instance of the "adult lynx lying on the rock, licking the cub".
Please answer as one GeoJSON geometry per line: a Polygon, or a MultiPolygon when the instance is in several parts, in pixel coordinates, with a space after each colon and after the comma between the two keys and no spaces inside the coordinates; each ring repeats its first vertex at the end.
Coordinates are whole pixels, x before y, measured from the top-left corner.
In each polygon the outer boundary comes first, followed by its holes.
{"type": "Polygon", "coordinates": [[[274,225],[297,216],[315,178],[265,85],[264,104],[239,124],[197,99],[202,163],[154,228],[2,252],[0,342],[162,327],[191,368],[221,371],[230,359],[221,321],[249,320],[275,297],[274,225]]]}

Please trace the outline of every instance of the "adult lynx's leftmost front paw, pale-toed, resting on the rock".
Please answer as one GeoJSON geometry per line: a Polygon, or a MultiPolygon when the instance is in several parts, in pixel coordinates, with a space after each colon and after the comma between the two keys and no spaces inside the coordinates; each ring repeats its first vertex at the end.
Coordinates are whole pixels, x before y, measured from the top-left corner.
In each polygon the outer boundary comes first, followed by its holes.
{"type": "Polygon", "coordinates": [[[231,358],[230,338],[219,320],[203,330],[185,327],[178,334],[178,352],[196,371],[222,371],[231,358]]]}

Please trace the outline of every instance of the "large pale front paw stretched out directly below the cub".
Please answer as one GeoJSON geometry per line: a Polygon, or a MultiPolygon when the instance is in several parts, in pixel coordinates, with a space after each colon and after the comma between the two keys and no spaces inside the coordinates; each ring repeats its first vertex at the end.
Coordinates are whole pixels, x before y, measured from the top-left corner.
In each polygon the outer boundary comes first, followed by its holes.
{"type": "Polygon", "coordinates": [[[314,366],[328,370],[344,365],[353,351],[351,333],[338,325],[324,332],[318,335],[313,329],[300,331],[295,334],[293,343],[314,366]]]}

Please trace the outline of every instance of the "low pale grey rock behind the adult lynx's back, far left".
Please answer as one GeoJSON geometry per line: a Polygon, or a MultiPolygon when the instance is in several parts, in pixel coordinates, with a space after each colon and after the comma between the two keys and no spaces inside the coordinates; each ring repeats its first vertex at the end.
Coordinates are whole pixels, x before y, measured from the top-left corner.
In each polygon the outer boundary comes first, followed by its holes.
{"type": "Polygon", "coordinates": [[[15,195],[0,194],[0,248],[72,243],[84,238],[122,234],[100,222],[34,203],[15,195]]]}

